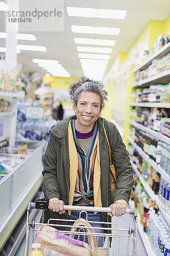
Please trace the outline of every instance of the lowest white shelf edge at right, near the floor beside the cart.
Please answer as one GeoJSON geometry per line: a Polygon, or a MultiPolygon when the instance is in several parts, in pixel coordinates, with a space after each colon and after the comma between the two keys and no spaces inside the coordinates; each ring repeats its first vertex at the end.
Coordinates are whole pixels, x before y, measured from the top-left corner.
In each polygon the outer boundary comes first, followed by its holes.
{"type": "MultiPolygon", "coordinates": [[[[130,200],[129,201],[129,207],[130,208],[134,208],[134,201],[133,200],[130,200]]],[[[137,212],[137,219],[138,219],[138,232],[139,232],[139,235],[142,239],[142,242],[144,244],[144,248],[147,252],[147,255],[148,256],[155,256],[155,253],[153,253],[153,250],[152,250],[152,247],[150,245],[150,242],[149,242],[149,239],[148,239],[148,236],[147,236],[147,233],[144,232],[143,230],[143,226],[142,224],[140,223],[140,215],[139,213],[137,212]]]]}

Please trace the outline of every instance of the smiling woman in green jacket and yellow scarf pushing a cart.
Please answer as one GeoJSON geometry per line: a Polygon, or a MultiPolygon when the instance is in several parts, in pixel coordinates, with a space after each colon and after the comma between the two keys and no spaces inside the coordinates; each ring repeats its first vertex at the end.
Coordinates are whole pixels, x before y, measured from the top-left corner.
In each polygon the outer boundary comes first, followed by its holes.
{"type": "Polygon", "coordinates": [[[76,115],[50,129],[43,160],[43,192],[50,207],[45,211],[45,222],[48,218],[76,219],[77,211],[66,213],[64,204],[110,207],[108,215],[88,212],[90,220],[108,222],[112,215],[125,214],[128,205],[133,183],[128,152],[115,125],[99,117],[107,99],[103,84],[82,77],[71,84],[69,93],[76,115]],[[109,151],[103,120],[116,169],[114,204],[111,204],[109,151]]]}

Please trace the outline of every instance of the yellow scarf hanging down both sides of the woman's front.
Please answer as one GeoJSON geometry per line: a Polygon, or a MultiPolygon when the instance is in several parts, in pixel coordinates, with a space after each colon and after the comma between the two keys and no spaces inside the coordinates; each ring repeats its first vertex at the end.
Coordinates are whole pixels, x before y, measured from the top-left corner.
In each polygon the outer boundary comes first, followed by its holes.
{"type": "MultiPolygon", "coordinates": [[[[73,132],[71,129],[71,121],[68,124],[68,150],[69,150],[69,160],[70,160],[70,191],[69,191],[69,205],[73,204],[74,190],[77,180],[77,170],[78,170],[78,156],[77,150],[74,143],[73,132]]],[[[94,163],[94,206],[102,207],[101,199],[101,185],[100,185],[100,153],[99,153],[99,137],[97,140],[97,154],[94,163]]],[[[96,214],[96,212],[95,212],[96,214]]],[[[68,215],[71,215],[71,211],[68,211],[68,215]]]]}

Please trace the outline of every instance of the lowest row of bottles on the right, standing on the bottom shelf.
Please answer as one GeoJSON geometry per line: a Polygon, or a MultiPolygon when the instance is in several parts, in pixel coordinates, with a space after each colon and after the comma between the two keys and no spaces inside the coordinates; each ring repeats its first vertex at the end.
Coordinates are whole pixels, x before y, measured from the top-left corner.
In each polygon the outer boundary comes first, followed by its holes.
{"type": "MultiPolygon", "coordinates": [[[[135,177],[137,180],[137,178],[135,177]]],[[[140,222],[147,233],[150,245],[155,256],[170,255],[170,225],[144,191],[142,184],[137,180],[135,192],[135,207],[140,215],[140,222]]]]}

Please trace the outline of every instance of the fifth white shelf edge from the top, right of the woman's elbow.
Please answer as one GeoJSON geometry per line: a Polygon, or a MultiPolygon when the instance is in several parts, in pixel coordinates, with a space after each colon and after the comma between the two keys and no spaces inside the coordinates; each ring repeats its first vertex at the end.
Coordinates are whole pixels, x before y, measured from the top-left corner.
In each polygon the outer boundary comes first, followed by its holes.
{"type": "Polygon", "coordinates": [[[154,162],[152,159],[150,159],[150,157],[142,150],[142,148],[140,148],[140,147],[133,141],[133,139],[132,139],[130,136],[127,137],[127,140],[128,140],[129,143],[133,146],[133,148],[135,148],[135,149],[138,151],[139,155],[140,155],[141,157],[143,157],[145,160],[147,160],[147,162],[150,164],[150,166],[152,166],[152,167],[156,170],[156,172],[159,172],[160,175],[161,175],[162,177],[164,177],[164,179],[166,179],[167,182],[170,183],[170,176],[169,176],[164,170],[162,170],[161,167],[160,167],[159,165],[157,165],[156,162],[154,162]]]}

